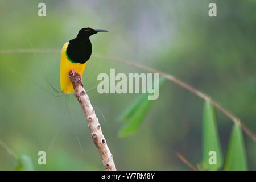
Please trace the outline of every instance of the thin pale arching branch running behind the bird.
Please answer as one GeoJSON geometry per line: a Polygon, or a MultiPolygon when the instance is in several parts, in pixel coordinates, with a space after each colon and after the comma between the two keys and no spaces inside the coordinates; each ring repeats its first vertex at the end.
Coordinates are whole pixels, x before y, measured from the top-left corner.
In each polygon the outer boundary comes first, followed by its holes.
{"type": "MultiPolygon", "coordinates": [[[[46,52],[60,53],[60,50],[59,49],[46,49],[46,50],[35,49],[34,51],[32,49],[5,49],[5,50],[0,50],[0,54],[32,53],[32,52],[37,52],[37,53],[46,53],[46,52]]],[[[105,58],[105,59],[116,61],[116,62],[119,62],[119,63],[125,63],[127,65],[132,66],[132,67],[144,69],[145,71],[148,71],[148,72],[159,73],[160,76],[166,78],[167,80],[170,80],[170,81],[174,82],[175,84],[180,85],[182,88],[187,89],[189,92],[192,92],[193,94],[196,94],[197,96],[203,98],[204,100],[209,101],[218,110],[220,110],[223,114],[225,114],[228,118],[230,118],[234,123],[237,123],[238,125],[240,125],[242,130],[245,131],[245,133],[247,135],[249,135],[249,137],[251,139],[253,139],[254,142],[256,142],[256,136],[253,133],[253,131],[251,131],[248,127],[246,127],[240,121],[240,119],[236,117],[236,115],[233,115],[228,110],[224,109],[224,107],[222,107],[216,101],[213,101],[209,96],[207,96],[207,94],[193,88],[191,85],[186,84],[185,82],[179,80],[178,78],[176,78],[176,77],[174,77],[174,76],[172,76],[168,73],[160,72],[157,69],[153,69],[153,68],[147,67],[145,65],[135,63],[134,61],[118,59],[118,58],[115,58],[115,57],[102,56],[102,55],[99,55],[99,54],[96,54],[96,53],[93,53],[92,56],[93,57],[98,57],[98,58],[101,58],[101,59],[105,58]]]]}

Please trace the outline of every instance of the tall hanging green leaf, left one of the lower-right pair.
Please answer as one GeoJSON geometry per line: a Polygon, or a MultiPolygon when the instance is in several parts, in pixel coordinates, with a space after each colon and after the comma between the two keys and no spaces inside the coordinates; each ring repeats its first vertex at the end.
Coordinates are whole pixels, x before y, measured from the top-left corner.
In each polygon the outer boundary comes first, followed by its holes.
{"type": "Polygon", "coordinates": [[[208,170],[218,170],[223,163],[214,107],[205,101],[203,111],[203,162],[208,170]]]}

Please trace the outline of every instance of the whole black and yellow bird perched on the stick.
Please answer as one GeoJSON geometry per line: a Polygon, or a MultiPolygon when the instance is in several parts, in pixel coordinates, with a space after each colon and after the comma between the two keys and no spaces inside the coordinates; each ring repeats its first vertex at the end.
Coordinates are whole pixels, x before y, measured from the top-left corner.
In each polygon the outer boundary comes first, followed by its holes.
{"type": "Polygon", "coordinates": [[[75,39],[69,40],[62,47],[60,57],[60,87],[62,92],[68,94],[74,91],[68,73],[72,71],[74,75],[77,72],[81,79],[85,65],[92,55],[92,43],[90,43],[89,37],[98,32],[107,32],[107,30],[82,28],[75,39]]]}

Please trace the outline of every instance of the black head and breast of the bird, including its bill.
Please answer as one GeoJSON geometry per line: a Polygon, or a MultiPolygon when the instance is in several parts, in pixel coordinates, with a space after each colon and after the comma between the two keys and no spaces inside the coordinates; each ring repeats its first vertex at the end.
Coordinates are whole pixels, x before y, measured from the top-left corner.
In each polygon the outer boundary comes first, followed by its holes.
{"type": "Polygon", "coordinates": [[[89,37],[98,32],[108,32],[102,29],[93,29],[90,27],[79,30],[75,39],[69,40],[67,55],[75,63],[86,63],[92,55],[92,43],[89,37]]]}

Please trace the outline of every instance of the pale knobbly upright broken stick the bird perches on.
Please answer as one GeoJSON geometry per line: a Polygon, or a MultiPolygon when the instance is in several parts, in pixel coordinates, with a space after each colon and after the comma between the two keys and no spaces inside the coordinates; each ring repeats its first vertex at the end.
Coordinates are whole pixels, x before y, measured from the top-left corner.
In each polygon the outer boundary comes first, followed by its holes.
{"type": "Polygon", "coordinates": [[[100,123],[98,122],[98,118],[95,115],[95,110],[90,103],[89,96],[85,92],[82,80],[79,80],[79,74],[75,73],[73,76],[73,74],[69,72],[68,76],[73,84],[77,101],[79,101],[82,110],[84,111],[85,118],[92,134],[93,142],[100,152],[105,170],[116,171],[117,169],[115,168],[113,155],[106,144],[106,139],[102,134],[100,123]]]}

